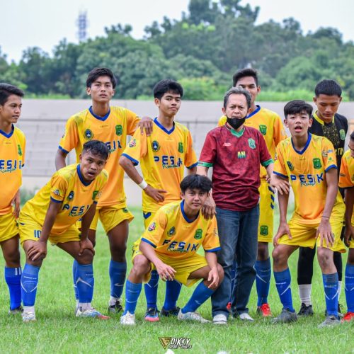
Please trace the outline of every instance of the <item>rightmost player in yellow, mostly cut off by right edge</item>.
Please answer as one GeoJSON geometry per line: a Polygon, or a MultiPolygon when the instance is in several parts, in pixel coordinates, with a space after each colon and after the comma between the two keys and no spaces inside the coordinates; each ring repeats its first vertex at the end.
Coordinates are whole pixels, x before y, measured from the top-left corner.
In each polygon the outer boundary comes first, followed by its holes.
{"type": "Polygon", "coordinates": [[[348,311],[342,321],[354,320],[354,132],[350,134],[349,150],[343,154],[339,186],[346,188],[346,232],[345,242],[349,247],[346,265],[346,300],[348,311]]]}

